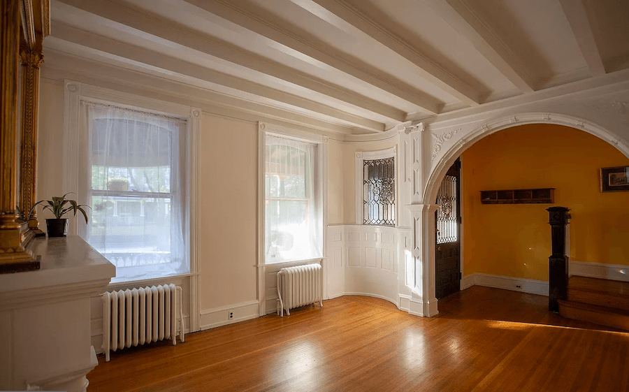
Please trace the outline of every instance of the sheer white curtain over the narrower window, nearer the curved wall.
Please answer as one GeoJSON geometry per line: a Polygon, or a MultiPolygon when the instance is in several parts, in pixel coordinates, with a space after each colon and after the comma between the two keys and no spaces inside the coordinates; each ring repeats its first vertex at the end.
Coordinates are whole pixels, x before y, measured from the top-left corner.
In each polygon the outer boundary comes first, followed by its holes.
{"type": "Polygon", "coordinates": [[[317,145],[266,135],[266,263],[321,257],[317,145]]]}

